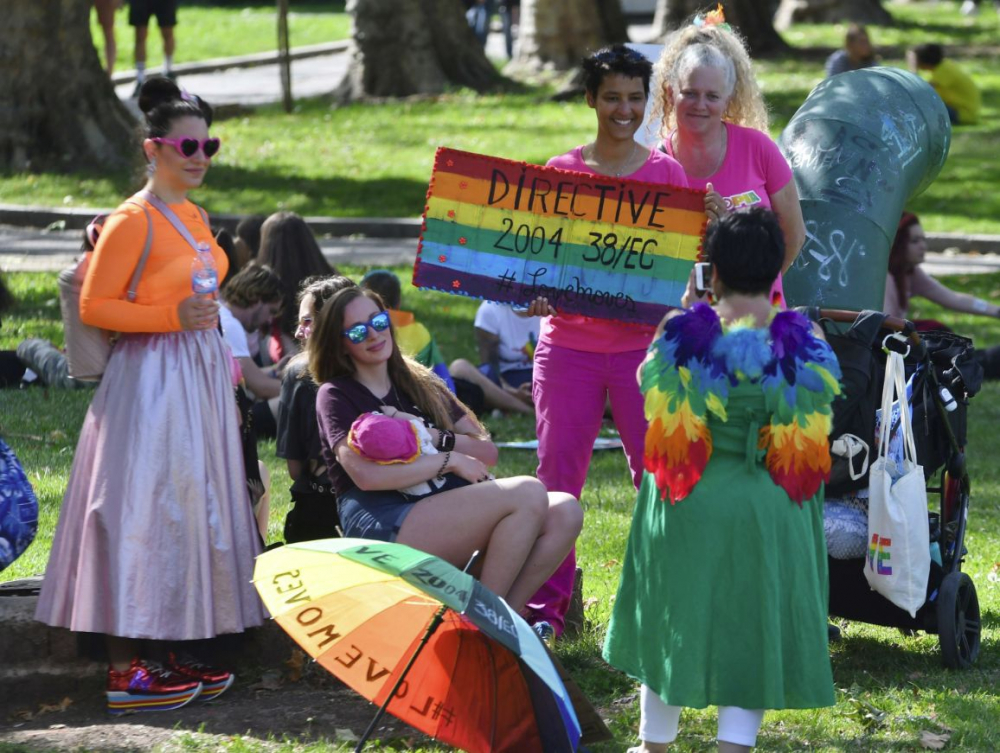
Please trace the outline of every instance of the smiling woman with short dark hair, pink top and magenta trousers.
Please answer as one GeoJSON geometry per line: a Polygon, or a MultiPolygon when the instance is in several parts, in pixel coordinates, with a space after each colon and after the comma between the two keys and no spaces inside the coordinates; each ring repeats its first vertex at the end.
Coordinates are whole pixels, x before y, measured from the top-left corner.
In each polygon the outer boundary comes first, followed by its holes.
{"type": "MultiPolygon", "coordinates": [[[[550,167],[649,183],[687,186],[677,162],[635,141],[649,96],[652,64],[624,45],[583,61],[587,104],[597,116],[592,142],[553,157],[550,167]]],[[[594,440],[610,401],[636,488],[642,477],[646,419],[636,369],[655,328],[558,314],[545,299],[528,309],[544,316],[535,349],[532,395],[538,431],[538,478],[549,491],[579,498],[594,440]]],[[[573,552],[529,601],[532,622],[562,633],[576,573],[573,552]]]]}

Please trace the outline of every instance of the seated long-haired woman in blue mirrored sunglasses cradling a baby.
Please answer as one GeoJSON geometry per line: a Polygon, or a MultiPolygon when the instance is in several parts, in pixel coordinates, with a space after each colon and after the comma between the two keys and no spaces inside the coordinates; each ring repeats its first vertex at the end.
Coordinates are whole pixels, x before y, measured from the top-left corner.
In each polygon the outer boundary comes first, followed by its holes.
{"type": "Polygon", "coordinates": [[[433,372],[403,357],[377,293],[336,293],[315,321],[309,370],[320,442],[349,537],[396,541],[463,567],[483,555],[480,580],[515,610],[562,562],[583,525],[568,494],[546,492],[529,476],[493,480],[497,448],[472,413],[433,372]],[[363,413],[423,419],[439,454],[380,465],[351,449],[363,413]],[[431,482],[429,494],[397,491],[431,482]]]}

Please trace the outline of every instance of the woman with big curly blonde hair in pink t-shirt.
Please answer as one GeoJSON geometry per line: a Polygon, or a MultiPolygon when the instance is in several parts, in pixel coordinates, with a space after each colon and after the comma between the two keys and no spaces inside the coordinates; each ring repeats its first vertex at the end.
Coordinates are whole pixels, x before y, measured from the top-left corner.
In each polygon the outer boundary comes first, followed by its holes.
{"type": "MultiPolygon", "coordinates": [[[[652,114],[663,119],[660,148],[680,162],[691,188],[709,191],[710,212],[772,209],[785,234],[786,272],[805,240],[798,191],[767,135],[767,108],[746,47],[721,14],[713,20],[676,32],[656,64],[663,85],[652,114]]],[[[779,275],[772,299],[781,292],[779,275]]]]}

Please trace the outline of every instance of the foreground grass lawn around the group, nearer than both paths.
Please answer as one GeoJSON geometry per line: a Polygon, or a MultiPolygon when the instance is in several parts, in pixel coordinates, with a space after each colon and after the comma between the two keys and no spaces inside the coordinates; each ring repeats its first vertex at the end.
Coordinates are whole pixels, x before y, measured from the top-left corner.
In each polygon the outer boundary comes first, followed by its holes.
{"type": "MultiPolygon", "coordinates": [[[[362,270],[347,268],[347,274],[362,270]]],[[[401,276],[407,269],[396,270],[401,276]]],[[[58,304],[55,275],[10,274],[8,282],[21,298],[19,308],[4,318],[0,348],[11,348],[32,334],[58,341],[58,304]]],[[[1000,274],[952,277],[946,284],[984,298],[1000,297],[1000,274]]],[[[470,328],[476,302],[412,288],[405,291],[404,306],[417,313],[435,333],[449,358],[474,357],[470,328]]],[[[931,305],[913,312],[919,317],[940,317],[962,333],[985,344],[1000,343],[996,322],[943,313],[931,305]]],[[[79,427],[86,412],[88,392],[44,392],[41,389],[0,392],[0,435],[14,447],[36,487],[42,505],[38,538],[3,579],[39,573],[44,568],[58,515],[79,427]]],[[[844,640],[832,647],[837,704],[818,711],[784,711],[767,715],[759,738],[762,750],[776,751],[912,751],[920,749],[922,732],[948,736],[947,750],[1000,749],[1000,465],[990,447],[995,446],[1000,422],[1000,386],[987,384],[973,400],[969,418],[969,468],[972,505],[964,570],[976,583],[983,613],[983,646],[978,664],[969,671],[943,669],[937,637],[903,636],[897,630],[860,623],[844,623],[844,640]]],[[[500,440],[533,435],[526,419],[493,421],[490,428],[500,440]]],[[[288,506],[287,476],[274,456],[273,443],[261,446],[273,479],[270,538],[280,535],[288,506]]],[[[498,475],[533,473],[532,453],[505,450],[498,475]]],[[[627,677],[611,670],[600,659],[600,645],[607,626],[620,572],[620,560],[630,522],[634,491],[624,459],[616,452],[599,452],[591,465],[584,505],[587,511],[578,558],[584,568],[584,597],[588,628],[583,635],[558,644],[564,663],[585,692],[609,716],[617,736],[614,744],[598,746],[599,752],[620,751],[633,744],[638,722],[637,688],[627,677]]],[[[679,573],[678,577],[683,577],[679,573]]],[[[714,750],[713,710],[685,711],[676,750],[714,750]]],[[[219,750],[189,740],[185,749],[219,750]]],[[[222,744],[222,743],[220,743],[222,744]]],[[[392,746],[397,747],[397,746],[392,746]]],[[[302,750],[301,743],[271,747],[249,736],[227,738],[230,751],[302,750]]],[[[347,750],[320,741],[311,751],[347,750]]],[[[423,746],[420,750],[444,750],[423,746]]]]}

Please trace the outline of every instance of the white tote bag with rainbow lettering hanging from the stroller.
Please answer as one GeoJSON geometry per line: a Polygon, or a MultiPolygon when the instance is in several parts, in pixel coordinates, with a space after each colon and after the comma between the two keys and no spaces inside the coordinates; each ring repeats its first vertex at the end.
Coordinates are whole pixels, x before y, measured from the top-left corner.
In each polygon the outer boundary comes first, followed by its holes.
{"type": "Polygon", "coordinates": [[[916,616],[927,596],[930,533],[924,469],[917,465],[913,426],[906,404],[903,357],[890,352],[882,388],[878,457],[872,463],[868,498],[868,584],[900,609],[916,616]],[[888,457],[894,394],[903,432],[901,467],[888,457]]]}

